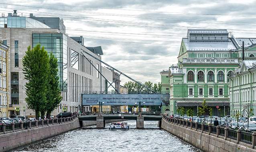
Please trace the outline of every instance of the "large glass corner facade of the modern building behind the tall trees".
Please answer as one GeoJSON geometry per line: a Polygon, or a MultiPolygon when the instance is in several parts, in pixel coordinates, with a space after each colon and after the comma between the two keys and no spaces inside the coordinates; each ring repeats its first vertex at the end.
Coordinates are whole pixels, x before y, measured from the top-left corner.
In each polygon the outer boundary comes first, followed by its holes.
{"type": "Polygon", "coordinates": [[[41,44],[41,47],[44,47],[48,53],[53,53],[57,58],[59,87],[61,91],[67,91],[67,36],[60,33],[34,33],[32,41],[33,47],[41,44]]]}

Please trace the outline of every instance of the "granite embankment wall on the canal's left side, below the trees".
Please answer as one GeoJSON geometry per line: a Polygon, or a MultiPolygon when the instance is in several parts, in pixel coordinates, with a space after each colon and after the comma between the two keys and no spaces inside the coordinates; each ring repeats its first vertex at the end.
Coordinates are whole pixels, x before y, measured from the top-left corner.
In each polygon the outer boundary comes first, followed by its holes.
{"type": "Polygon", "coordinates": [[[75,118],[69,122],[62,122],[60,124],[49,124],[41,127],[33,127],[27,130],[20,130],[17,132],[10,132],[0,135],[0,152],[9,151],[19,148],[33,142],[42,141],[46,138],[62,134],[64,132],[79,128],[79,120],[75,118]]]}

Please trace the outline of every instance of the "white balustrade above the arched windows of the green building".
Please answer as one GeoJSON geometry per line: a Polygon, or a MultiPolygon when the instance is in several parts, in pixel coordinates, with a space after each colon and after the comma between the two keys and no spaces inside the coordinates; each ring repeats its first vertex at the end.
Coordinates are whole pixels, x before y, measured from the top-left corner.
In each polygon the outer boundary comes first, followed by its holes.
{"type": "Polygon", "coordinates": [[[238,59],[187,58],[187,59],[183,59],[183,63],[238,63],[238,59]]]}

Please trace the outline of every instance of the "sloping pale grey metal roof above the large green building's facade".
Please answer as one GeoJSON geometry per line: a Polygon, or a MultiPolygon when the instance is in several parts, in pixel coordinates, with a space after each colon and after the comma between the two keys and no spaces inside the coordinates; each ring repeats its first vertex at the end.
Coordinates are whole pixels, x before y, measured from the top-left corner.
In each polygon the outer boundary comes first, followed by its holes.
{"type": "Polygon", "coordinates": [[[187,51],[229,51],[236,50],[231,41],[226,42],[190,42],[188,38],[183,38],[187,51]]]}

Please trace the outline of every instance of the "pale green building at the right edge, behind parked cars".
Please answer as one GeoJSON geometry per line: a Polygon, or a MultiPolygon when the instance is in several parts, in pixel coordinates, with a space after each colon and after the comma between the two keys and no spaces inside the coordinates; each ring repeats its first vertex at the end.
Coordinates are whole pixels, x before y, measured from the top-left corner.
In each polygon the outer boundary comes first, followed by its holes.
{"type": "Polygon", "coordinates": [[[234,118],[236,113],[247,116],[248,107],[256,116],[256,60],[242,61],[240,68],[230,75],[231,116],[234,118]]]}

